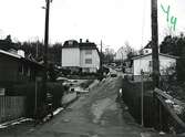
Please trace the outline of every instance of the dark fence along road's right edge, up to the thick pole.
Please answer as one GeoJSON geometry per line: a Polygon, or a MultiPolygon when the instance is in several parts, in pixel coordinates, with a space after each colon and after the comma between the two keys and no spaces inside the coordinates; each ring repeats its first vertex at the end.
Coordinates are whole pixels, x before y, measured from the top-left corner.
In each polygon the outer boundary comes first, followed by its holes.
{"type": "MultiPolygon", "coordinates": [[[[152,91],[146,91],[151,87],[150,82],[144,84],[144,95],[143,95],[143,118],[144,126],[153,127],[153,96],[152,91]]],[[[141,83],[132,83],[127,80],[123,80],[123,101],[129,106],[129,110],[134,119],[141,124],[142,123],[142,107],[141,107],[141,83]]]]}

